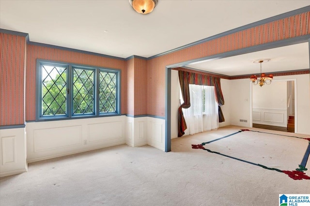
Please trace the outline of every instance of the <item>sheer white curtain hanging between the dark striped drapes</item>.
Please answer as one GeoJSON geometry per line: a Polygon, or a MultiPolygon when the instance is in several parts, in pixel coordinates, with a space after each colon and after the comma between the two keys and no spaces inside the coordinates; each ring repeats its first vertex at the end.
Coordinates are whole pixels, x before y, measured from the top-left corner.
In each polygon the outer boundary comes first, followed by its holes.
{"type": "MultiPolygon", "coordinates": [[[[182,94],[181,96],[181,103],[182,94]]],[[[190,107],[182,109],[187,129],[185,135],[217,129],[218,108],[214,87],[189,85],[190,107]]]]}

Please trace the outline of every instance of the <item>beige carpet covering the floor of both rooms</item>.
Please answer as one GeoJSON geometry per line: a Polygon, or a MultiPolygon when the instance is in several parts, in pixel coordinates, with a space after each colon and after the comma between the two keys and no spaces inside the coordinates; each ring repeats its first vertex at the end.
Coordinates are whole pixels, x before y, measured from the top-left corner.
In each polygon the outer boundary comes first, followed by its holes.
{"type": "MultiPolygon", "coordinates": [[[[276,206],[279,194],[310,193],[310,180],[191,148],[239,129],[229,126],[173,139],[168,153],[121,145],[34,162],[27,173],[0,179],[0,206],[276,206]]],[[[292,170],[307,144],[244,133],[205,147],[292,170]]]]}

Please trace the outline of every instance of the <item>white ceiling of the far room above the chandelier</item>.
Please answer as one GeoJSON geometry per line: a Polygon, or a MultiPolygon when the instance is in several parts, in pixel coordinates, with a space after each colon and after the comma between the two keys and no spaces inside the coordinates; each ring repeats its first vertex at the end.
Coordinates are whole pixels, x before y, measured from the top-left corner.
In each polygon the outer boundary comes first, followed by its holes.
{"type": "Polygon", "coordinates": [[[270,59],[262,63],[262,72],[282,72],[309,69],[309,44],[294,44],[244,55],[189,64],[188,67],[229,76],[260,73],[257,59],[270,59]]]}

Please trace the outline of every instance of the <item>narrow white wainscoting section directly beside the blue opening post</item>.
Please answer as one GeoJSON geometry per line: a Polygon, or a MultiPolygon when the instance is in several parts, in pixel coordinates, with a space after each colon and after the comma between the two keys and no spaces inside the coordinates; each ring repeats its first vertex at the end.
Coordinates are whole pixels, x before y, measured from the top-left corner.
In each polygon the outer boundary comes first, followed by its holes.
{"type": "Polygon", "coordinates": [[[165,151],[165,119],[148,117],[147,144],[165,151]]]}

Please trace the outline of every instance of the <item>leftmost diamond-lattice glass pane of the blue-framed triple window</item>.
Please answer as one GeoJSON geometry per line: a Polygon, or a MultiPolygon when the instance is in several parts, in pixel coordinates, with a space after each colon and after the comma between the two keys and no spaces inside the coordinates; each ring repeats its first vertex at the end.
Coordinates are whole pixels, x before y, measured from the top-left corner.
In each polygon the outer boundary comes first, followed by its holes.
{"type": "Polygon", "coordinates": [[[66,75],[62,66],[41,65],[41,116],[66,115],[66,75]]]}

